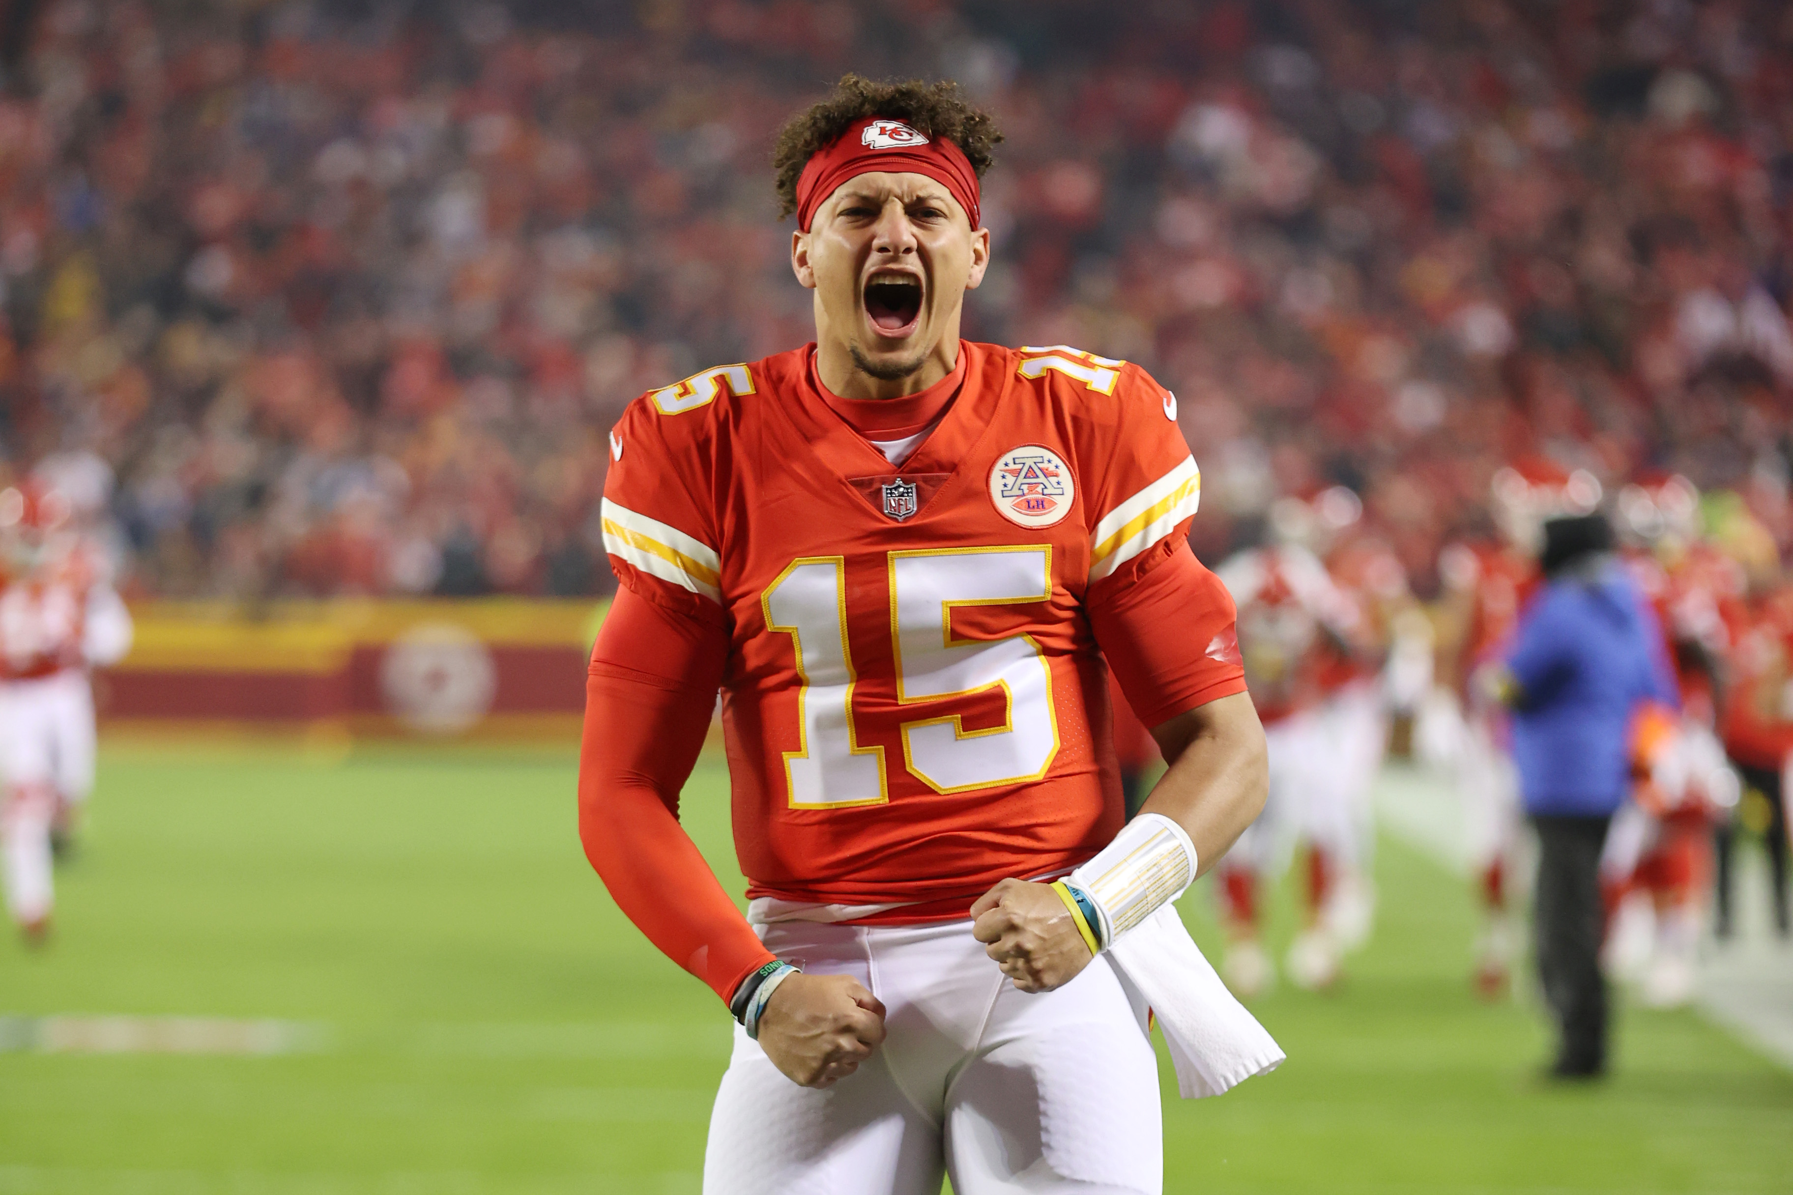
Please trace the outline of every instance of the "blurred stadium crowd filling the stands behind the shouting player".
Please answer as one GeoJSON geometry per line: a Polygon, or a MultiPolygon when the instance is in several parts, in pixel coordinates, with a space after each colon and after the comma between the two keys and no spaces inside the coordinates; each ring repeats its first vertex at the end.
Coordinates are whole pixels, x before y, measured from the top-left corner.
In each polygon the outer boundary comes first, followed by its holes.
{"type": "Polygon", "coordinates": [[[999,116],[968,335],[1171,385],[1208,559],[1343,484],[1425,595],[1520,457],[1793,546],[1773,0],[0,9],[0,468],[127,593],[606,589],[622,405],[810,335],[767,154],[845,70],[999,116]]]}

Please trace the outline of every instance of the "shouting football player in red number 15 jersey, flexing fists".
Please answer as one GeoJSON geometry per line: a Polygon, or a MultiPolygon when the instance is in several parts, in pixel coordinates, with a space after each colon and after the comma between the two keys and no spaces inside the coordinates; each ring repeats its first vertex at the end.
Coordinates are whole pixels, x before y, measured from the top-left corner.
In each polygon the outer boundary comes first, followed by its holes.
{"type": "Polygon", "coordinates": [[[710,1193],[1158,1191],[1148,1005],[1185,1095],[1282,1057],[1169,905],[1264,801],[1176,400],[959,337],[997,140],[952,84],[843,79],[775,152],[816,340],[610,437],[579,830],[739,1023],[710,1193]],[[1169,761],[1131,822],[1108,666],[1169,761]],[[746,917],[678,822],[717,688],[746,917]]]}

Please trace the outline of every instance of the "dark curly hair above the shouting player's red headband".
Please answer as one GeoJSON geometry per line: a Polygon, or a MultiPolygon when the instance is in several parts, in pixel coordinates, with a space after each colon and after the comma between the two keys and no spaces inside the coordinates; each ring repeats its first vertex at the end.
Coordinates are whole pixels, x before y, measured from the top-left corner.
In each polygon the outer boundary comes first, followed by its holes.
{"type": "Polygon", "coordinates": [[[834,95],[778,129],[773,168],[778,172],[780,220],[796,211],[796,179],[810,154],[830,145],[864,116],[889,116],[927,136],[947,138],[965,150],[977,177],[995,161],[990,149],[1002,140],[990,113],[972,107],[952,81],[873,82],[864,75],[841,75],[834,95]]]}

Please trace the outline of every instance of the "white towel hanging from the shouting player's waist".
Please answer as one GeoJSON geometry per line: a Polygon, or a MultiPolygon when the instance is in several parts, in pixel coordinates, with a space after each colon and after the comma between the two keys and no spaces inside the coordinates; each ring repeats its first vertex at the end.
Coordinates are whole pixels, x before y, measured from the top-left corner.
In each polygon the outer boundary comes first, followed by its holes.
{"type": "Polygon", "coordinates": [[[1122,984],[1133,985],[1158,1018],[1185,1100],[1221,1095],[1252,1075],[1277,1070],[1287,1055],[1246,1012],[1189,937],[1174,905],[1122,933],[1108,948],[1122,984]]]}

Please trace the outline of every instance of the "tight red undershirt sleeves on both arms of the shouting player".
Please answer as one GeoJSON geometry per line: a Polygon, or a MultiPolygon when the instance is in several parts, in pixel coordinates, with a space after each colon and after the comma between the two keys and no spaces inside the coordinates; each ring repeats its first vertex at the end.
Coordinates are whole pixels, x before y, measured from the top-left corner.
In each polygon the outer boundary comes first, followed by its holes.
{"type": "MultiPolygon", "coordinates": [[[[1244,692],[1232,602],[1182,536],[1124,573],[1097,584],[1088,613],[1148,727],[1244,692]]],[[[723,1003],[773,960],[678,822],[726,658],[719,618],[619,588],[592,650],[579,758],[586,858],[624,916],[723,1003]]]]}

